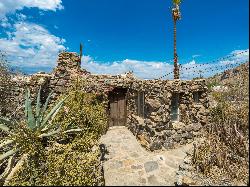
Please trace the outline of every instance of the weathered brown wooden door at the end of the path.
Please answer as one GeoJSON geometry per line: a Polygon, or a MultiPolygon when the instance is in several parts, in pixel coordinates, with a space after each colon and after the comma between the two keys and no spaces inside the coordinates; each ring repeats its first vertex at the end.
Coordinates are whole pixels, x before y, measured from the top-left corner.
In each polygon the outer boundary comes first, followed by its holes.
{"type": "Polygon", "coordinates": [[[116,90],[110,94],[109,126],[125,126],[127,120],[126,92],[116,90]]]}

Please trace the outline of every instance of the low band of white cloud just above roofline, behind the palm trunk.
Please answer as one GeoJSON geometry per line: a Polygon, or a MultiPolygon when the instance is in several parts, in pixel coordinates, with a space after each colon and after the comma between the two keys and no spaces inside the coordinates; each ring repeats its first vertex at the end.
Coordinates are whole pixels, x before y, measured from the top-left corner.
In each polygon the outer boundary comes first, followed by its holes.
{"type": "MultiPolygon", "coordinates": [[[[200,64],[195,60],[189,63],[182,64],[180,71],[181,79],[190,80],[200,75],[210,77],[216,73],[223,72],[225,69],[230,69],[237,66],[239,63],[245,62],[249,58],[246,50],[234,51],[234,58],[229,59],[230,64],[220,60],[217,63],[200,64]],[[239,54],[242,53],[242,54],[239,54]]],[[[128,71],[133,71],[135,76],[141,79],[157,79],[166,75],[163,79],[173,79],[173,65],[166,62],[149,62],[126,59],[123,61],[115,61],[111,63],[96,62],[90,56],[82,58],[82,68],[87,69],[94,74],[111,74],[117,75],[128,71]]]]}

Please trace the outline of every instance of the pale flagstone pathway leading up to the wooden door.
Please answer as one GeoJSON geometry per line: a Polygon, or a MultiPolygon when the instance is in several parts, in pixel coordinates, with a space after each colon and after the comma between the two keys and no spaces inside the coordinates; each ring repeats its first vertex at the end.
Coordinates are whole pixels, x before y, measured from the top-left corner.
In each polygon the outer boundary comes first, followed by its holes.
{"type": "Polygon", "coordinates": [[[106,186],[173,186],[185,152],[192,146],[148,152],[126,127],[110,128],[100,141],[109,152],[104,162],[106,186]]]}

